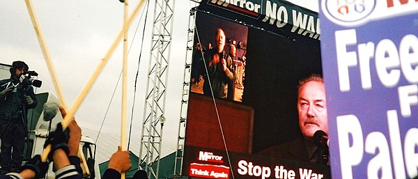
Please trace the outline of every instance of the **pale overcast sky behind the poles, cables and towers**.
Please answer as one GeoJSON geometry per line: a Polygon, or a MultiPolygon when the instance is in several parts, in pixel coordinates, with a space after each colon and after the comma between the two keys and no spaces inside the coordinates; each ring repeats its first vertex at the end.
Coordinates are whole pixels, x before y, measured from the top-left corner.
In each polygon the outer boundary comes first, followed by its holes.
{"type": "MultiPolygon", "coordinates": [[[[293,2],[299,5],[306,4],[312,10],[317,11],[318,9],[317,1],[316,3],[311,0],[295,0],[293,2]]],[[[72,107],[73,102],[86,85],[86,81],[91,78],[93,71],[98,67],[100,59],[104,57],[116,35],[121,31],[123,3],[118,0],[33,0],[32,3],[39,20],[40,30],[45,37],[54,68],[61,83],[67,106],[72,107]]],[[[137,6],[137,3],[137,0],[130,1],[130,12],[137,6]]],[[[165,150],[176,150],[189,10],[194,6],[196,6],[196,3],[189,0],[176,1],[169,84],[167,86],[165,114],[167,123],[164,125],[163,137],[163,148],[165,150]]],[[[152,20],[152,14],[148,15],[148,22],[152,20]]],[[[134,106],[134,123],[132,124],[134,129],[132,141],[136,142],[139,142],[141,135],[139,130],[144,115],[146,72],[150,49],[150,28],[148,28],[144,37],[141,62],[139,63],[144,17],[141,18],[140,11],[130,27],[129,33],[129,43],[132,47],[128,56],[128,121],[131,118],[134,78],[137,74],[138,64],[140,67],[134,106]],[[138,30],[135,34],[134,31],[137,26],[138,30]],[[132,40],[134,35],[136,37],[132,40]]],[[[104,120],[102,132],[119,134],[121,129],[119,127],[121,84],[116,89],[113,102],[110,102],[110,100],[122,69],[122,48],[123,45],[119,45],[116,52],[111,56],[100,77],[98,77],[75,114],[79,125],[83,128],[99,130],[107,107],[110,105],[111,109],[104,120]]],[[[21,60],[29,65],[29,70],[38,72],[38,79],[42,80],[42,86],[37,89],[37,93],[45,91],[55,93],[23,0],[0,1],[0,49],[0,63],[11,64],[13,61],[21,60]]]]}

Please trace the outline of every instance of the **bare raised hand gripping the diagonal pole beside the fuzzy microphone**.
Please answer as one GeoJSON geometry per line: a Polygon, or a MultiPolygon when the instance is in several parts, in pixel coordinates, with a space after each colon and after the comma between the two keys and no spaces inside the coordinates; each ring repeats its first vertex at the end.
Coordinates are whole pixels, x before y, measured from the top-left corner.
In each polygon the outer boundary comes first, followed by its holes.
{"type": "MultiPolygon", "coordinates": [[[[59,111],[61,111],[61,116],[65,118],[67,111],[61,106],[59,107],[59,111]]],[[[70,130],[70,136],[68,138],[68,155],[77,156],[80,140],[82,139],[82,129],[77,125],[75,118],[72,118],[68,125],[68,129],[70,130]]]]}

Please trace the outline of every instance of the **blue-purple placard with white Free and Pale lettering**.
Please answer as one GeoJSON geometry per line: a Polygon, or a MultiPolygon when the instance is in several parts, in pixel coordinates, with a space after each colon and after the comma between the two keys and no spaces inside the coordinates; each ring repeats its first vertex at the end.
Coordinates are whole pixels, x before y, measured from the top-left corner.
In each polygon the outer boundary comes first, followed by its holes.
{"type": "Polygon", "coordinates": [[[332,178],[418,175],[418,1],[321,0],[332,178]]]}

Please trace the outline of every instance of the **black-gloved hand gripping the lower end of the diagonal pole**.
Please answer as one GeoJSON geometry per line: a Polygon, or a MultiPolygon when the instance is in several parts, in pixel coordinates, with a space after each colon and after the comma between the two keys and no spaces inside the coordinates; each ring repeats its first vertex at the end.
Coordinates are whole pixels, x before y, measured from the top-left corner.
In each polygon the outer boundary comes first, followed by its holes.
{"type": "Polygon", "coordinates": [[[45,141],[44,148],[46,148],[49,144],[52,145],[51,152],[49,152],[48,159],[49,161],[52,161],[52,155],[54,154],[54,151],[57,149],[62,149],[65,151],[65,153],[69,153],[68,150],[68,135],[70,131],[68,128],[66,128],[63,131],[63,127],[61,123],[58,123],[56,125],[56,130],[54,132],[51,132],[48,136],[48,139],[45,141]]]}

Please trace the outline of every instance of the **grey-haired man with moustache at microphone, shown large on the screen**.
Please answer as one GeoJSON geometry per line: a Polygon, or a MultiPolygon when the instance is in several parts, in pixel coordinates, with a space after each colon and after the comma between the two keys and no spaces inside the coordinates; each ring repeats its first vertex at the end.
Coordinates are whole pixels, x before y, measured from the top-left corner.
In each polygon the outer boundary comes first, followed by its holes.
{"type": "Polygon", "coordinates": [[[259,154],[329,164],[328,148],[323,141],[328,134],[327,100],[320,75],[310,75],[299,81],[297,113],[303,138],[266,148],[259,154]]]}

